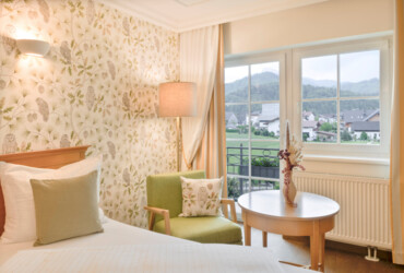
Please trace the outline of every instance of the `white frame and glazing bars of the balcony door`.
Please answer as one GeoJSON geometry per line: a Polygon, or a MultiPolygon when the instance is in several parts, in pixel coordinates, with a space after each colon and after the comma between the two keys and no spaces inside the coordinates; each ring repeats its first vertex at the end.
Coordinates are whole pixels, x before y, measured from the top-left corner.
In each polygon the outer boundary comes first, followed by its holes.
{"type": "MultiPolygon", "coordinates": [[[[284,145],[284,124],[286,121],[286,108],[287,108],[287,96],[286,96],[286,52],[285,51],[276,51],[276,52],[269,52],[269,54],[260,54],[257,56],[248,56],[248,57],[236,57],[236,58],[226,58],[225,60],[225,69],[226,68],[234,68],[234,67],[242,67],[248,66],[248,100],[246,103],[226,103],[225,106],[230,105],[247,105],[248,106],[248,115],[249,120],[251,120],[251,105],[253,104],[280,104],[280,147],[284,145]],[[266,63],[266,62],[278,62],[280,63],[280,100],[257,100],[251,102],[251,66],[266,63]]],[[[275,140],[263,140],[263,139],[252,139],[251,138],[251,126],[250,122],[248,124],[248,139],[228,139],[226,135],[227,141],[246,141],[249,143],[248,150],[248,158],[249,158],[249,175],[234,175],[227,174],[229,178],[241,178],[249,181],[249,192],[251,192],[251,181],[252,180],[263,180],[263,181],[281,181],[281,178],[266,178],[266,177],[256,177],[252,176],[251,173],[251,143],[252,142],[275,142],[275,140]]],[[[282,169],[282,164],[280,166],[282,169]]],[[[282,187],[282,186],[281,186],[282,187]]]]}

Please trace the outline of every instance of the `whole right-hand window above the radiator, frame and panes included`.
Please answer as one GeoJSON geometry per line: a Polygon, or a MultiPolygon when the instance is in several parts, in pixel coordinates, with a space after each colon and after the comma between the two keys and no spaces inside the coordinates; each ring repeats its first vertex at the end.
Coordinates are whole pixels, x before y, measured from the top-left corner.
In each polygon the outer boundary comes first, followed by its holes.
{"type": "MultiPolygon", "coordinates": [[[[294,99],[310,154],[388,154],[389,43],[350,41],[294,51],[294,99]]],[[[298,117],[298,116],[299,117],[298,117]]]]}

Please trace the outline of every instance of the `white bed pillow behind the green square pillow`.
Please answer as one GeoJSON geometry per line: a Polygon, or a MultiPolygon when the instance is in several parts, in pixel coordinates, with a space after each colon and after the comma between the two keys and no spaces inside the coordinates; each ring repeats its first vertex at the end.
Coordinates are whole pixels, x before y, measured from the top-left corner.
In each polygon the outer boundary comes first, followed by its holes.
{"type": "Polygon", "coordinates": [[[33,168],[2,162],[0,181],[4,195],[5,224],[0,242],[13,244],[36,239],[35,204],[31,179],[64,179],[98,170],[99,192],[100,166],[100,156],[88,157],[59,169],[33,168]]]}

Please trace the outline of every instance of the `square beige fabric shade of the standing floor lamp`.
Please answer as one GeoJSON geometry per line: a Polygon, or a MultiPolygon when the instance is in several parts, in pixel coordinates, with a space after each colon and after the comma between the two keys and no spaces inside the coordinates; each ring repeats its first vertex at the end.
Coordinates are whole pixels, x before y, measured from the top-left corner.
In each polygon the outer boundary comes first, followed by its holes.
{"type": "Polygon", "coordinates": [[[159,91],[159,117],[192,117],[197,115],[197,85],[189,82],[162,83],[159,91]]]}

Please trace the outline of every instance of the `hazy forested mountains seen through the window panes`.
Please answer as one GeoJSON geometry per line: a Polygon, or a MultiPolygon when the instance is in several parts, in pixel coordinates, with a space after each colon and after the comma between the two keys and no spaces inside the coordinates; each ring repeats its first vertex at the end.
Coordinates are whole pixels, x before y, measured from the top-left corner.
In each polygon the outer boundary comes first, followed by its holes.
{"type": "MultiPolygon", "coordinates": [[[[272,72],[254,74],[251,78],[251,102],[265,102],[280,99],[278,75],[272,72]]],[[[379,79],[370,79],[361,82],[341,83],[341,96],[369,96],[379,95],[379,79]]],[[[225,85],[226,103],[248,102],[248,78],[242,78],[225,85]]],[[[336,96],[336,85],[333,81],[318,81],[305,78],[302,80],[304,98],[325,98],[336,96]]],[[[341,104],[341,111],[352,109],[379,109],[378,99],[345,100],[341,104]]],[[[261,111],[261,104],[251,105],[251,111],[261,111]]],[[[304,103],[302,110],[312,111],[314,115],[336,115],[336,103],[311,102],[304,103]]],[[[226,111],[233,111],[238,116],[246,115],[246,106],[226,106],[226,111]]]]}

